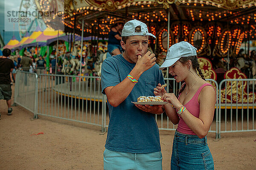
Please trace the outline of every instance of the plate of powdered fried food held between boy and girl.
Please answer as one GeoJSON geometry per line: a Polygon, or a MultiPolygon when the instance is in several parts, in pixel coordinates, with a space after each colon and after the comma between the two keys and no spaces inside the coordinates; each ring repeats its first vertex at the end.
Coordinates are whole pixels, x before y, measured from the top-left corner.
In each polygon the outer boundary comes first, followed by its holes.
{"type": "Polygon", "coordinates": [[[136,105],[166,105],[168,102],[164,102],[160,96],[140,96],[137,102],[132,102],[136,105]]]}

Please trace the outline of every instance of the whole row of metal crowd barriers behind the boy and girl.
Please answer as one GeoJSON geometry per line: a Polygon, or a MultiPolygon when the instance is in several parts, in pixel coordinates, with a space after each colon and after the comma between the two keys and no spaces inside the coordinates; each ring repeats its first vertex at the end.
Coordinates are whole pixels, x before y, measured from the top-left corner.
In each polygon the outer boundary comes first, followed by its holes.
{"type": "MultiPolygon", "coordinates": [[[[177,95],[180,83],[165,79],[167,92],[177,95]]],[[[256,131],[256,79],[207,79],[216,90],[215,115],[209,132],[216,139],[221,133],[256,131]],[[248,86],[250,82],[250,87],[248,86]]],[[[100,77],[35,74],[17,71],[15,103],[38,115],[108,127],[107,97],[101,93],[100,77]]],[[[175,130],[166,114],[155,115],[160,130],[175,130]]]]}

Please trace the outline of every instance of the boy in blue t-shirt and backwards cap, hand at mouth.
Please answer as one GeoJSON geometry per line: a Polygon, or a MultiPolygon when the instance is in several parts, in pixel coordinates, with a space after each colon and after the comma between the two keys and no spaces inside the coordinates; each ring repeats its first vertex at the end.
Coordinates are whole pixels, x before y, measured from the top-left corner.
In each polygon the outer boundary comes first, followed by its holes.
{"type": "Polygon", "coordinates": [[[130,20],[122,31],[122,54],[102,63],[102,94],[109,108],[108,135],[103,153],[104,170],[162,170],[160,137],[155,114],[161,105],[134,105],[139,96],[153,96],[163,74],[148,48],[145,23],[130,20]]]}

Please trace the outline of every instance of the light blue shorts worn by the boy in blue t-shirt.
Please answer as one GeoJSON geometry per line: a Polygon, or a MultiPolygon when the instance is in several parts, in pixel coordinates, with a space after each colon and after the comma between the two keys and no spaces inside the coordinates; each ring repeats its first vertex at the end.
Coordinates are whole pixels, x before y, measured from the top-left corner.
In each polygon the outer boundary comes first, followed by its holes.
{"type": "Polygon", "coordinates": [[[162,153],[127,153],[105,149],[104,170],[162,170],[162,153]]]}

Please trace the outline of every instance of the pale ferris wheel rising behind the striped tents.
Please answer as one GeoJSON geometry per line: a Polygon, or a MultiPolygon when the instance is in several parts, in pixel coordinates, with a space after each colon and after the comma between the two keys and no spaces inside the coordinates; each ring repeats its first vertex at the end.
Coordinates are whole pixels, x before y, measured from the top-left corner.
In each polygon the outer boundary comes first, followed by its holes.
{"type": "Polygon", "coordinates": [[[38,4],[42,0],[21,0],[19,9],[18,23],[20,39],[26,34],[26,31],[33,31],[39,25],[41,29],[46,28],[44,20],[38,17],[38,4]]]}

